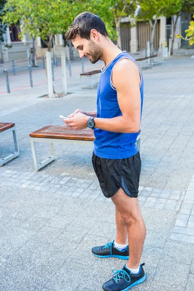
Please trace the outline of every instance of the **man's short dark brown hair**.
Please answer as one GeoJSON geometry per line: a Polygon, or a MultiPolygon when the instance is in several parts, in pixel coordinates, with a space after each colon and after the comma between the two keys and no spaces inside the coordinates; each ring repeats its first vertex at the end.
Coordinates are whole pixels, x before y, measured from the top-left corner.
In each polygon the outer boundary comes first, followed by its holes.
{"type": "Polygon", "coordinates": [[[72,40],[79,35],[81,38],[90,40],[90,32],[92,29],[96,29],[97,32],[104,36],[108,36],[105,24],[99,16],[89,12],[82,12],[73,20],[65,37],[67,40],[72,40]]]}

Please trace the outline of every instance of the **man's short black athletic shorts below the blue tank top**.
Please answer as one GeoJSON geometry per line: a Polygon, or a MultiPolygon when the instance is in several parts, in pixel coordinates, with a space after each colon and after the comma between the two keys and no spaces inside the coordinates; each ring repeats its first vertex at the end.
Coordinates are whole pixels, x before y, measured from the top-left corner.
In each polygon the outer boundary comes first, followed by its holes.
{"type": "Polygon", "coordinates": [[[122,188],[125,194],[137,198],[141,172],[139,152],[121,160],[102,159],[93,153],[92,163],[105,197],[112,197],[122,188]]]}

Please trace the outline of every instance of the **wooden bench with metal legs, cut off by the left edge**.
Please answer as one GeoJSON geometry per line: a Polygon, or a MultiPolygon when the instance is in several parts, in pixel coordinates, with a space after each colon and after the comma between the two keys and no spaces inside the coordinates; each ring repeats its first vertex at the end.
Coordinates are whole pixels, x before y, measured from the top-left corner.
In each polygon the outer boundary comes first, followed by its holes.
{"type": "Polygon", "coordinates": [[[15,145],[15,152],[10,154],[9,156],[5,158],[0,159],[0,166],[4,165],[7,162],[12,161],[16,157],[19,156],[19,148],[17,144],[17,137],[16,137],[16,126],[15,123],[0,123],[0,137],[11,132],[13,133],[14,137],[14,145],[15,145]]]}

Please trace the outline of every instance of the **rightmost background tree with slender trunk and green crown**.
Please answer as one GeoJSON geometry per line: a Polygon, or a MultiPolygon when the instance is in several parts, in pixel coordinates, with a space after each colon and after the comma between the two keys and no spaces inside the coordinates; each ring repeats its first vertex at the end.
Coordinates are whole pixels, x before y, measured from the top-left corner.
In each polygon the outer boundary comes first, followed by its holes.
{"type": "Polygon", "coordinates": [[[172,16],[172,45],[170,54],[173,55],[175,32],[178,17],[181,16],[181,12],[191,14],[194,12],[194,0],[169,0],[169,1],[171,1],[171,5],[165,7],[165,9],[163,10],[163,15],[166,17],[172,16]]]}

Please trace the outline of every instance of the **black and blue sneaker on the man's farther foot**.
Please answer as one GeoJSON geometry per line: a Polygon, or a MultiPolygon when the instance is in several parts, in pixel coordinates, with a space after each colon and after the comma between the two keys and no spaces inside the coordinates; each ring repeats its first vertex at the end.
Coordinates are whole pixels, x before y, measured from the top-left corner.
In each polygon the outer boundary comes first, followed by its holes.
{"type": "Polygon", "coordinates": [[[119,250],[114,246],[114,241],[108,242],[105,245],[93,247],[92,253],[98,258],[129,259],[129,245],[124,250],[119,250]]]}

